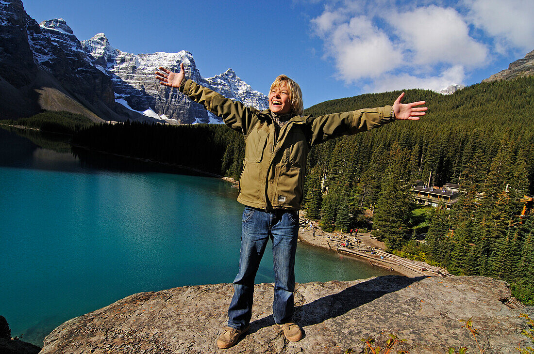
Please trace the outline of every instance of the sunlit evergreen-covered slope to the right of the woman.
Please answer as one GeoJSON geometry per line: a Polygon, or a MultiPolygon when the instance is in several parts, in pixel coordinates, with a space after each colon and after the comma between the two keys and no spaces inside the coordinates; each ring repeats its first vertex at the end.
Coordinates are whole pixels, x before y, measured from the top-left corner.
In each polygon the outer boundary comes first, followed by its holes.
{"type": "MultiPolygon", "coordinates": [[[[342,98],[312,106],[305,114],[382,106],[399,94],[342,98]]],[[[534,78],[477,84],[449,96],[406,92],[406,102],[419,100],[427,101],[429,110],[417,122],[394,122],[312,149],[309,167],[322,172],[328,187],[323,197],[339,205],[348,193],[373,209],[373,234],[390,251],[453,274],[504,279],[517,298],[534,304],[534,222],[519,217],[521,197],[534,191],[534,78]],[[352,167],[339,168],[347,163],[352,167]],[[407,240],[406,227],[406,186],[418,179],[434,186],[457,183],[463,191],[452,210],[429,213],[421,242],[407,240]],[[351,181],[352,190],[340,193],[341,180],[351,181]]],[[[330,209],[322,215],[331,224],[340,217],[330,209]]]]}

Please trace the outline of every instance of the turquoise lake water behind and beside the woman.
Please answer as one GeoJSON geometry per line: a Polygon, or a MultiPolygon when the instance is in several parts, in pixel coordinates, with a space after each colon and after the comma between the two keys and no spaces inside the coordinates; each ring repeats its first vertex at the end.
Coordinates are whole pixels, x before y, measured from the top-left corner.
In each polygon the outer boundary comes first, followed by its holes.
{"type": "MultiPolygon", "coordinates": [[[[130,294],[233,281],[243,206],[229,183],[19,134],[0,129],[0,315],[12,336],[42,346],[66,320],[130,294]]],[[[385,274],[297,248],[299,283],[385,274]]],[[[273,282],[269,249],[256,282],[273,282]]]]}

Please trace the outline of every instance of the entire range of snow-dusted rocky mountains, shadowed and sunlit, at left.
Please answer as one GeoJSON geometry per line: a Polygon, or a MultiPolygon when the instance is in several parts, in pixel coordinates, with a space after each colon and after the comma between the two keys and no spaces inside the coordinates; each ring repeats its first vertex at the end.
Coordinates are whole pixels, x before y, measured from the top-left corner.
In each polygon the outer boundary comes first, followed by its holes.
{"type": "Polygon", "coordinates": [[[80,42],[63,19],[38,24],[21,0],[0,0],[0,109],[3,118],[42,110],[80,113],[95,121],[220,122],[189,98],[159,85],[158,67],[187,77],[233,100],[265,109],[267,98],[229,69],[202,78],[191,53],[131,54],[104,34],[80,42]]]}

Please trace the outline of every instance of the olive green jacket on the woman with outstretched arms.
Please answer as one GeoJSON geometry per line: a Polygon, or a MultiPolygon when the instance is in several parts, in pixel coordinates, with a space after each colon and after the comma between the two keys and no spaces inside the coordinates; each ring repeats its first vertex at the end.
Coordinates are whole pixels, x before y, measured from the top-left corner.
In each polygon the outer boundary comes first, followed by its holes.
{"type": "Polygon", "coordinates": [[[237,200],[263,210],[300,209],[312,145],[378,128],[392,120],[391,106],[319,117],[294,116],[277,136],[270,110],[249,108],[192,80],[184,80],[179,90],[245,136],[245,164],[237,200]]]}

